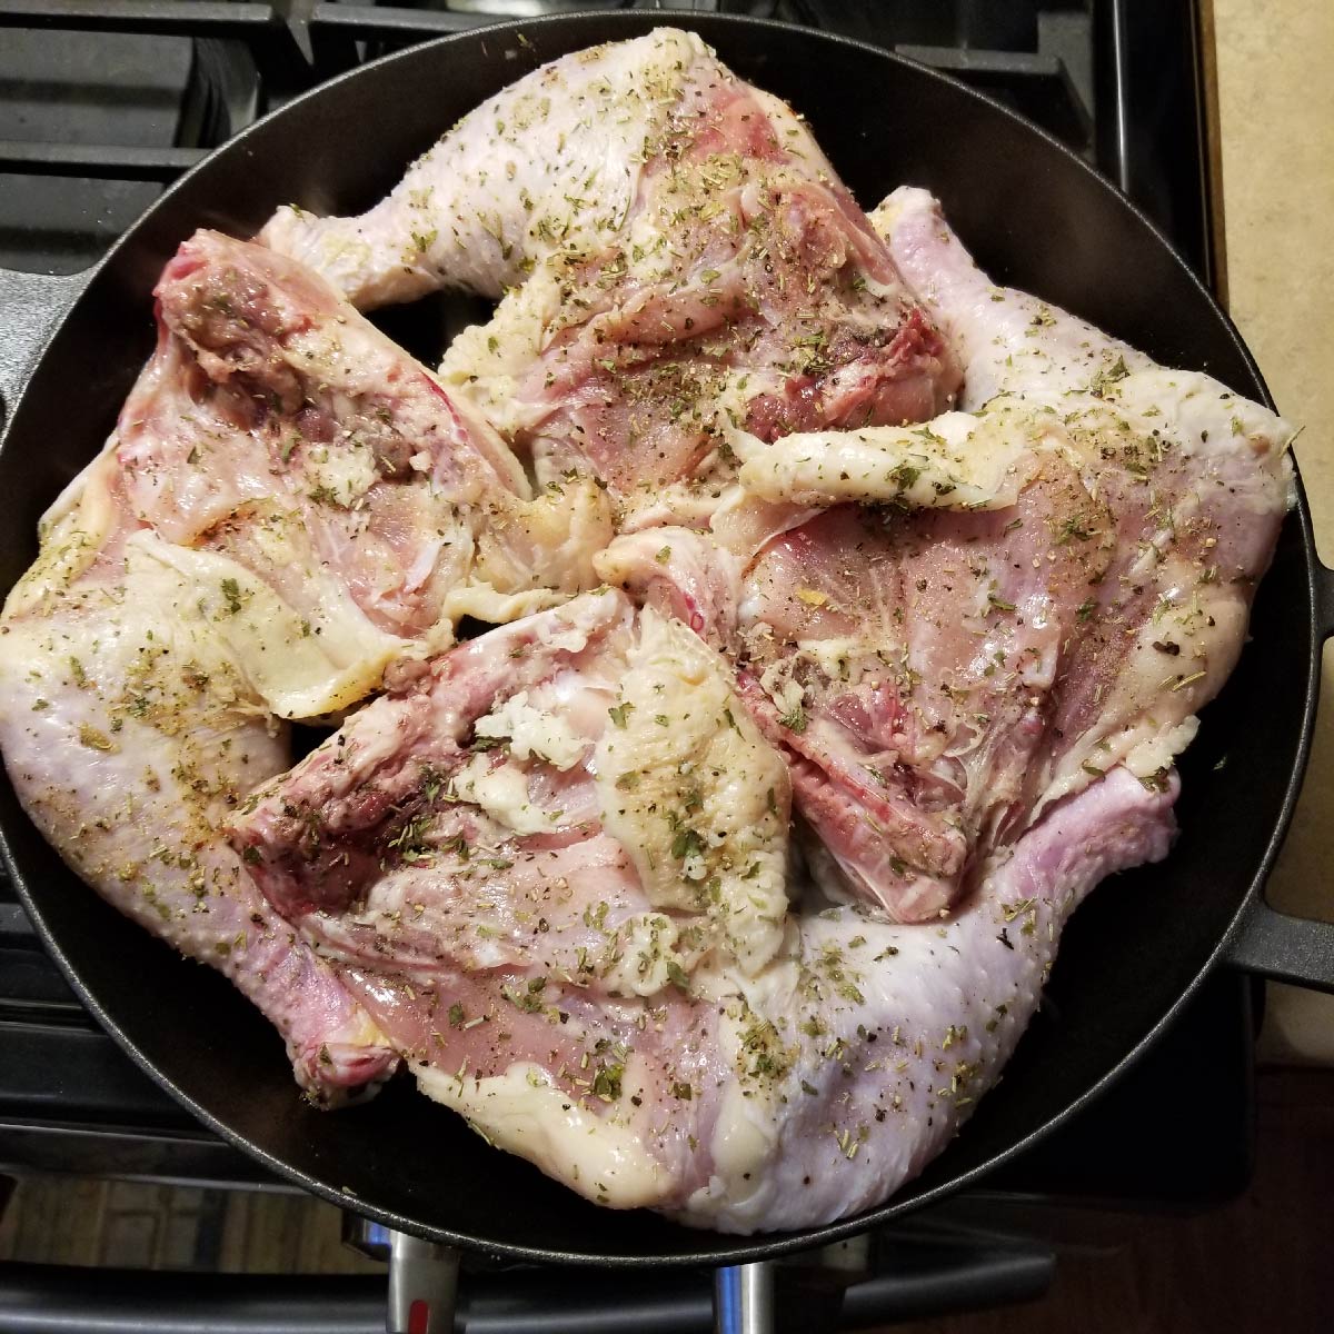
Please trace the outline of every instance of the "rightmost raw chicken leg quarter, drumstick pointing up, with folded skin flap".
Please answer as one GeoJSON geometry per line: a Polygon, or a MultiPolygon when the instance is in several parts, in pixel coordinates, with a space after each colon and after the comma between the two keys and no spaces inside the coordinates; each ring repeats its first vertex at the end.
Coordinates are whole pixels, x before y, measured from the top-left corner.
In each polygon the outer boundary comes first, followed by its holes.
{"type": "Polygon", "coordinates": [[[831,508],[759,551],[736,642],[826,886],[916,922],[1113,767],[1166,782],[1241,651],[1291,431],[994,288],[923,192],[876,219],[972,411],[738,432],[743,487],[831,508]]]}

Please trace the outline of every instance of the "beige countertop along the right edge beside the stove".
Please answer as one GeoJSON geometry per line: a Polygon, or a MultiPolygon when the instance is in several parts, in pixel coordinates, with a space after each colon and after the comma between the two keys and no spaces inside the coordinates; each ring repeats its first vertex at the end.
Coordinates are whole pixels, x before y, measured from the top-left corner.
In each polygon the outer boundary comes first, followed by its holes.
{"type": "MultiPolygon", "coordinates": [[[[1214,199],[1227,305],[1294,446],[1315,539],[1334,563],[1334,4],[1202,0],[1213,36],[1214,199]],[[1219,208],[1221,204],[1221,208],[1219,208]]],[[[1270,902],[1334,920],[1334,652],[1311,764],[1270,902]]],[[[1261,720],[1257,719],[1257,724],[1261,720]]],[[[1334,1065],[1334,996],[1269,988],[1262,1058],[1334,1065]]]]}

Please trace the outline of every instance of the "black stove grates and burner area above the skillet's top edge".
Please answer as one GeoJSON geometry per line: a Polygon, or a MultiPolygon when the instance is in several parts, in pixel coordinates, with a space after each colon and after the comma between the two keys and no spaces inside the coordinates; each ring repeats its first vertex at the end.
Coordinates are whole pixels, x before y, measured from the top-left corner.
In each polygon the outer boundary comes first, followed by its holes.
{"type": "Polygon", "coordinates": [[[1214,277],[1197,16],[1191,4],[1158,0],[451,0],[416,8],[320,0],[287,15],[269,4],[197,0],[0,0],[0,28],[11,33],[0,87],[21,95],[32,84],[27,59],[36,40],[75,63],[80,51],[97,61],[96,77],[45,89],[53,96],[23,125],[11,124],[0,101],[0,197],[25,199],[43,177],[64,183],[36,187],[27,223],[12,203],[0,208],[0,264],[69,272],[92,263],[152,201],[155,184],[255,115],[366,59],[507,16],[571,8],[652,9],[664,21],[672,12],[754,13],[890,47],[1006,101],[1083,153],[1214,277]],[[91,36],[101,41],[89,44],[91,36]],[[125,123],[132,84],[116,77],[115,61],[107,68],[107,40],[133,44],[124,63],[133,80],[137,53],[140,91],[145,68],[160,71],[163,43],[192,48],[165,136],[155,125],[125,141],[87,137],[76,104],[105,103],[105,119],[125,123]]]}

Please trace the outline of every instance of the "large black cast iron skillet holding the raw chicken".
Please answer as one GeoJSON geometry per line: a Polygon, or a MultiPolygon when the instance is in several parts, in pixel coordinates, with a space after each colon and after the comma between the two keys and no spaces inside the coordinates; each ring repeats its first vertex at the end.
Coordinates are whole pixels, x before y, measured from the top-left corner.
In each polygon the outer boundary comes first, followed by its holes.
{"type": "MultiPolygon", "coordinates": [[[[998,281],[1078,311],[1167,366],[1207,370],[1267,400],[1237,331],[1185,263],[1054,140],[872,47],[754,20],[688,21],[739,75],[810,117],[863,205],[903,181],[926,185],[998,281]]],[[[55,332],[0,451],[0,587],[32,560],[39,514],[105,439],[152,344],[149,291],[196,227],[248,236],[284,201],[358,212],[504,84],[652,25],[643,13],[567,16],[391,56],[216,152],[91,276],[5,275],[0,328],[11,374],[44,328],[55,332]]],[[[800,1234],[728,1238],[599,1210],[487,1149],[406,1083],[336,1114],[305,1106],[259,1014],[80,884],[7,784],[0,830],[24,906],[92,1013],[164,1089],[273,1171],[392,1227],[514,1258],[735,1263],[834,1241],[974,1181],[1106,1087],[1221,960],[1334,988],[1334,927],[1282,918],[1261,899],[1306,763],[1319,648],[1331,630],[1334,575],[1317,562],[1299,499],[1255,603],[1254,642],[1182,763],[1182,835],[1170,859],[1118,876],[1079,910],[1051,979],[1054,1003],[922,1178],[870,1214],[800,1234]]],[[[1171,1097],[1165,1090],[1165,1115],[1209,1115],[1189,1098],[1174,1110],[1171,1097]]]]}

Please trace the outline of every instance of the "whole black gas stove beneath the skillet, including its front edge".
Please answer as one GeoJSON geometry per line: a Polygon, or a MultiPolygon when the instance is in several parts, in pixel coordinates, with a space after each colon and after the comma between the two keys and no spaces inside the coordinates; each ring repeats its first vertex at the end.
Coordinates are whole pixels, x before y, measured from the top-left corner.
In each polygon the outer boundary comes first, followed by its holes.
{"type": "MultiPolygon", "coordinates": [[[[1197,15],[1158,0],[0,0],[0,265],[77,272],[211,148],[356,64],[442,33],[572,9],[750,13],[888,47],[1010,104],[1118,184],[1217,284],[1197,15]]],[[[791,1327],[870,1329],[1039,1295],[1063,1246],[1202,1209],[1250,1177],[1253,984],[1221,974],[1109,1095],[984,1186],[780,1270],[791,1327]],[[1171,1119],[1162,1089],[1210,1117],[1171,1119]],[[811,1274],[823,1275],[811,1281],[811,1274]],[[823,1294],[818,1301],[812,1293],[823,1294]],[[815,1306],[811,1302],[815,1301],[815,1306]],[[804,1305],[803,1305],[804,1303],[804,1305]],[[818,1309],[816,1309],[818,1307],[818,1309]]],[[[1059,1017],[1055,1017],[1059,1022],[1059,1017]]],[[[0,874],[0,1170],[285,1190],[201,1129],[101,1034],[0,874]]],[[[355,1227],[355,1225],[354,1225],[355,1227]]],[[[363,1233],[372,1250],[390,1245],[363,1233]]],[[[464,1262],[480,1330],[712,1327],[707,1273],[599,1277],[464,1262]]],[[[371,1330],[383,1279],[0,1266],[0,1334],[87,1327],[371,1330]],[[212,1323],[209,1323],[212,1322],[212,1323]]],[[[786,1327],[780,1322],[780,1327],[786,1327]]]]}

